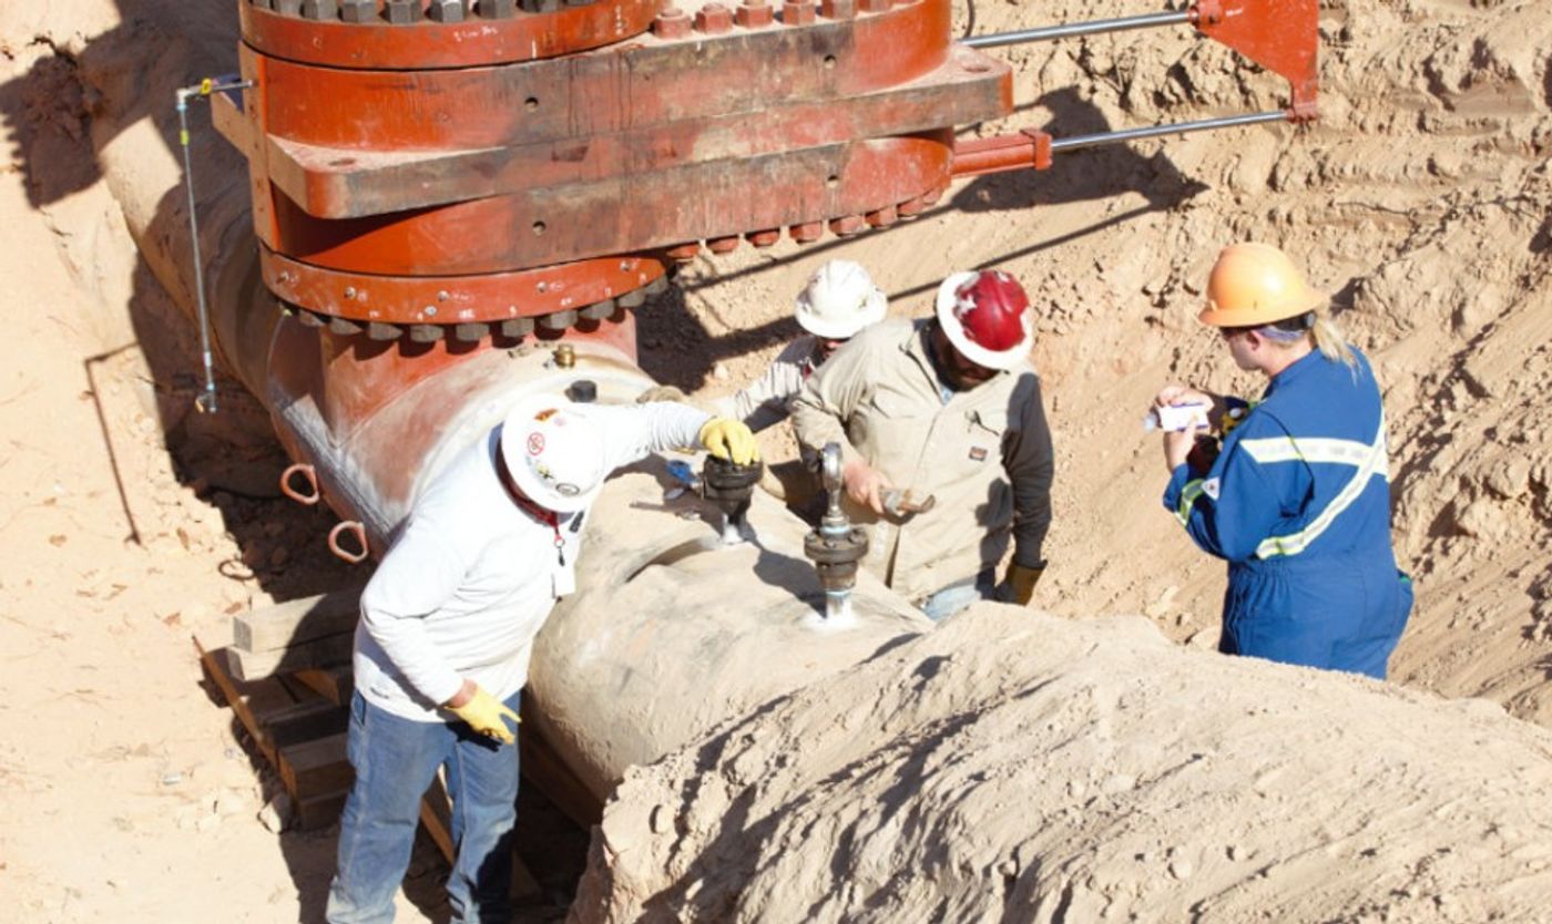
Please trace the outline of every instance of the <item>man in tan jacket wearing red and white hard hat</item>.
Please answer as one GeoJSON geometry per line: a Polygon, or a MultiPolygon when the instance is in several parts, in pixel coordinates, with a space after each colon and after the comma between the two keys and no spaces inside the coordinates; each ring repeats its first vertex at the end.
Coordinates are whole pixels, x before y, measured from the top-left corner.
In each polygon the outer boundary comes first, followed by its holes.
{"type": "Polygon", "coordinates": [[[841,446],[846,510],[872,524],[863,567],[931,619],[976,598],[1029,603],[1044,571],[1052,451],[1034,341],[1017,279],[954,273],[933,318],[863,330],[793,402],[807,450],[841,446]]]}

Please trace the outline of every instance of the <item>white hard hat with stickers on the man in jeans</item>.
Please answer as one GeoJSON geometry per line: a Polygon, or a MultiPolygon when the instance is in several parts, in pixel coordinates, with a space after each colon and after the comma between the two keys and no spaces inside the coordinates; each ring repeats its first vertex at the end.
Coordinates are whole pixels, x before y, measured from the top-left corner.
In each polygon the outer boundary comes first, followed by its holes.
{"type": "Polygon", "coordinates": [[[604,487],[604,434],[557,394],[521,398],[501,423],[501,459],[517,490],[545,510],[574,513],[604,487]]]}

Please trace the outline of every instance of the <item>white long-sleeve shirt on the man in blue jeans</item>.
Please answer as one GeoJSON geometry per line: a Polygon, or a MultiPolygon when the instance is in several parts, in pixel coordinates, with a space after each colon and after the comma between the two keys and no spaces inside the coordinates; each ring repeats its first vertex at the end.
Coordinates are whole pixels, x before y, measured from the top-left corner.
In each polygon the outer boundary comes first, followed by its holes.
{"type": "MultiPolygon", "coordinates": [[[[650,451],[694,446],[706,414],[674,403],[573,406],[598,420],[605,470],[650,451]]],[[[461,453],[414,502],[362,592],[355,688],[414,721],[445,721],[438,705],[464,679],[506,699],[528,681],[534,637],[571,578],[585,512],[548,522],[520,509],[497,470],[501,428],[461,453]]]]}

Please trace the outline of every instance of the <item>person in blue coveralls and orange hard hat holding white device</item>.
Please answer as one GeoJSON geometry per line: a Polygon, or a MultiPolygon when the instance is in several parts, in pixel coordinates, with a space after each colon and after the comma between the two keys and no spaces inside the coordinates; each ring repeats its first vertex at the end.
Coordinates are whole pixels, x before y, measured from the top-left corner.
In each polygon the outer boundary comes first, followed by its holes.
{"type": "Polygon", "coordinates": [[[1217,434],[1164,434],[1164,507],[1229,563],[1218,650],[1384,679],[1412,609],[1391,550],[1384,409],[1369,361],[1280,250],[1218,254],[1200,319],[1271,381],[1259,402],[1186,386],[1155,403],[1211,405],[1217,434]]]}

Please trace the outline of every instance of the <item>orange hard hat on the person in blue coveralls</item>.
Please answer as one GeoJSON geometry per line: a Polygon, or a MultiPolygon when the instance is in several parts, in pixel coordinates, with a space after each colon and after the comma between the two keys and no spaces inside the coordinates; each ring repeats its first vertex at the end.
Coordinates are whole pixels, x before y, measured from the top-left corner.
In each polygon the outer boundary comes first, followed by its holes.
{"type": "Polygon", "coordinates": [[[1214,327],[1262,327],[1313,312],[1325,296],[1304,281],[1288,254],[1270,243],[1231,243],[1207,276],[1207,305],[1197,318],[1214,327]]]}

